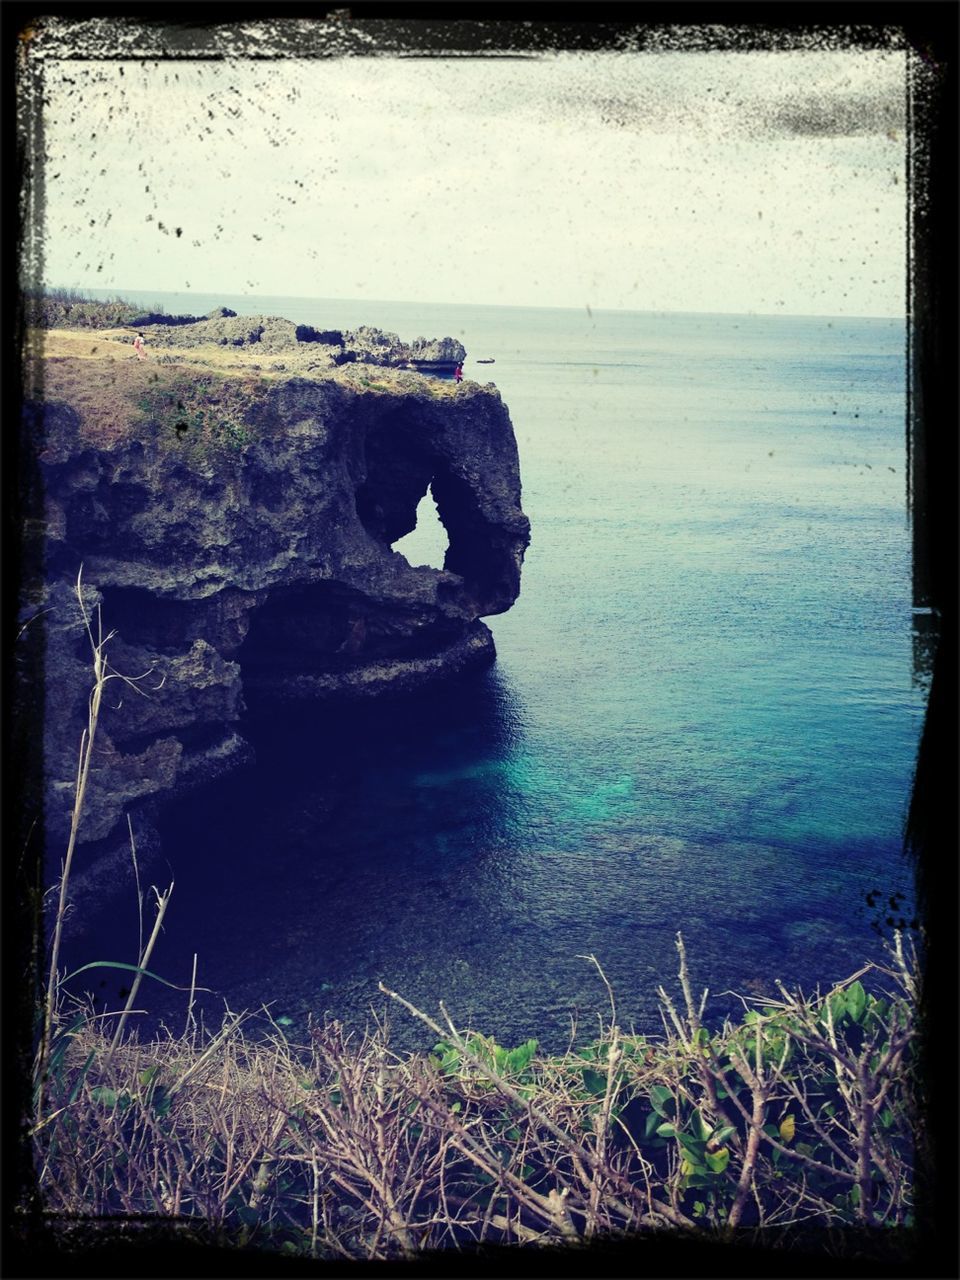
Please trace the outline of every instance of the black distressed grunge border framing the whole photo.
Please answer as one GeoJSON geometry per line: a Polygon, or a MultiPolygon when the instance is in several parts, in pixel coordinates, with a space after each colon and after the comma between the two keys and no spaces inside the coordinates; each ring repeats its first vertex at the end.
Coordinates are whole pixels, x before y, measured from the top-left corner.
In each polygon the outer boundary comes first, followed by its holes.
{"type": "MultiPolygon", "coordinates": [[[[344,5],[348,0],[344,0],[344,5]]],[[[920,905],[928,928],[924,995],[924,1078],[931,1129],[929,1158],[918,1171],[920,1225],[908,1249],[890,1265],[845,1258],[845,1275],[952,1276],[960,1270],[956,1240],[957,1204],[957,38],[960,9],[950,0],[876,0],[869,6],[856,0],[787,0],[758,5],[749,0],[650,0],[640,5],[618,3],[536,4],[457,3],[453,6],[416,3],[371,3],[360,0],[348,8],[305,4],[302,0],[234,0],[233,4],[168,0],[166,4],[137,0],[101,3],[28,4],[5,0],[0,6],[3,35],[3,142],[6,164],[4,211],[12,234],[4,237],[3,274],[8,284],[5,312],[5,367],[15,370],[5,380],[12,415],[19,417],[19,372],[22,371],[23,317],[18,283],[22,269],[36,270],[42,243],[27,236],[23,196],[42,206],[42,186],[27,187],[31,155],[42,150],[40,122],[28,120],[26,146],[18,136],[17,63],[23,33],[37,20],[56,17],[70,22],[93,22],[78,29],[74,56],[102,58],[109,54],[105,36],[110,24],[133,23],[154,37],[157,58],[225,56],[210,51],[210,28],[233,27],[241,20],[276,23],[269,49],[243,50],[234,42],[229,54],[246,58],[329,56],[367,54],[370,45],[356,36],[360,28],[371,36],[379,55],[417,51],[430,56],[524,56],[554,49],[609,50],[648,46],[652,32],[667,45],[699,50],[759,50],[771,47],[887,47],[891,31],[901,36],[900,47],[913,49],[913,92],[909,99],[909,280],[908,280],[908,380],[906,430],[908,502],[914,536],[914,607],[929,611],[938,625],[929,704],[920,742],[910,814],[905,838],[916,860],[920,905]],[[317,22],[316,38],[302,29],[293,45],[279,19],[317,22]],[[335,45],[330,26],[337,23],[335,45]],[[15,174],[15,182],[13,175],[15,174]]],[[[151,1236],[146,1248],[120,1248],[99,1238],[91,1248],[58,1254],[36,1234],[27,1238],[13,1230],[17,1192],[29,1185],[26,1144],[20,1140],[20,1116],[28,1097],[26,1068],[31,1056],[31,1012],[35,988],[24,982],[29,970],[31,928],[24,913],[18,868],[29,832],[31,810],[37,812],[40,777],[38,735],[31,733],[42,714],[42,653],[26,659],[27,678],[14,668],[10,650],[17,634],[22,594],[42,573],[36,541],[23,535],[24,521],[37,515],[40,494],[35,477],[23,467],[18,431],[3,433],[3,621],[5,663],[3,672],[4,773],[6,855],[4,876],[4,993],[17,1028],[5,1038],[4,1053],[4,1217],[3,1243],[6,1274],[40,1275],[314,1275],[334,1274],[330,1267],[276,1256],[207,1251],[198,1245],[178,1247],[169,1236],[151,1236]],[[13,808],[13,812],[12,812],[13,808]],[[19,896],[18,896],[19,888],[19,896]],[[10,1265],[13,1266],[12,1270],[10,1265]],[[192,1266],[191,1266],[192,1265],[192,1266]]],[[[925,614],[924,614],[925,616],[925,614]]],[[[35,842],[36,845],[40,841],[35,842]]],[[[410,1265],[357,1263],[349,1274],[448,1275],[449,1254],[410,1265]]],[[[654,1236],[616,1247],[577,1251],[503,1249],[476,1257],[458,1256],[456,1271],[465,1275],[627,1275],[643,1268],[648,1275],[813,1275],[827,1274],[823,1254],[785,1254],[758,1248],[692,1245],[673,1236],[654,1236]],[[522,1252],[522,1266],[518,1263],[522,1252]],[[659,1268],[663,1268],[662,1271],[659,1268]]]]}

